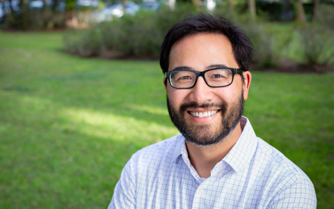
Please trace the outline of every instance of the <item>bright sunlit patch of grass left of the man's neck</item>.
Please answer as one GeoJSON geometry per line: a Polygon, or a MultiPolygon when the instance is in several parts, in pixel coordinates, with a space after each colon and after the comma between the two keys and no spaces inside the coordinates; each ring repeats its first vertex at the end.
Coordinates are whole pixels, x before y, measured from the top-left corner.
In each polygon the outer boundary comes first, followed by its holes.
{"type": "MultiPolygon", "coordinates": [[[[151,107],[151,109],[154,108],[151,107]]],[[[159,125],[154,121],[146,121],[145,118],[115,116],[87,109],[65,109],[62,113],[67,117],[67,121],[70,121],[68,124],[72,128],[92,137],[143,144],[145,141],[153,143],[162,140],[157,137],[161,134],[166,137],[177,134],[175,128],[159,125]]]]}

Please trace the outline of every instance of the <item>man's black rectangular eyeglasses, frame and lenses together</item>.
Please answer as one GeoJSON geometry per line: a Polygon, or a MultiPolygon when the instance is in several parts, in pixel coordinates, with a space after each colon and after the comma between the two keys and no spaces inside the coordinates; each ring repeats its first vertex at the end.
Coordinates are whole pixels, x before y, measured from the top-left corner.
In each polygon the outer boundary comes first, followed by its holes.
{"type": "Polygon", "coordinates": [[[230,86],[235,74],[242,74],[239,68],[213,68],[202,72],[194,70],[172,70],[165,73],[173,88],[193,88],[198,77],[202,76],[207,86],[218,88],[230,86]]]}

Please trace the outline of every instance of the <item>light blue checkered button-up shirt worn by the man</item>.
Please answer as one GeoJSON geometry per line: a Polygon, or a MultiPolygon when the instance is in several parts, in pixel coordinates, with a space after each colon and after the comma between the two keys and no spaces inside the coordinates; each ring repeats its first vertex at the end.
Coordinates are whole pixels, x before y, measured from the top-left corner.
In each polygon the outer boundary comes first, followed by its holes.
{"type": "Polygon", "coordinates": [[[109,208],[316,208],[306,174],[256,137],[247,118],[237,143],[207,179],[191,166],[181,134],[138,150],[109,208]]]}

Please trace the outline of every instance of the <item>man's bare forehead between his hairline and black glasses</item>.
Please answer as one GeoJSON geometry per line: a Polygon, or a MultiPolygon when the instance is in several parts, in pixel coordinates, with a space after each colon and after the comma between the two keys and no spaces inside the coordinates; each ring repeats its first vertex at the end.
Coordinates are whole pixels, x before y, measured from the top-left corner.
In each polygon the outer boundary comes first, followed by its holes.
{"type": "Polygon", "coordinates": [[[210,65],[226,65],[239,68],[234,59],[232,44],[219,33],[197,33],[186,36],[170,49],[168,70],[186,66],[196,71],[206,70],[210,65]]]}

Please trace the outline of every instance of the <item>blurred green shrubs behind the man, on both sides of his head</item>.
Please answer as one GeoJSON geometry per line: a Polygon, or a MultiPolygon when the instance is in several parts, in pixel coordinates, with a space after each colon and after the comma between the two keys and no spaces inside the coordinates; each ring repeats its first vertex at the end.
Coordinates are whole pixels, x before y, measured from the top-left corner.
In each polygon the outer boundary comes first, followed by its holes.
{"type": "MultiPolygon", "coordinates": [[[[293,24],[277,27],[279,24],[269,23],[265,14],[258,15],[253,22],[248,13],[233,15],[228,10],[227,3],[220,3],[212,15],[231,17],[232,22],[246,31],[255,47],[253,61],[257,69],[283,69],[286,68],[286,61],[292,63],[287,69],[291,67],[296,71],[309,70],[299,70],[300,63],[311,65],[316,72],[332,68],[333,31],[328,29],[325,20],[320,26],[310,29],[294,27],[293,24]],[[319,65],[322,67],[318,68],[319,65]]],[[[238,13],[238,10],[240,8],[235,8],[234,12],[238,13]]],[[[207,13],[205,8],[180,4],[174,11],[161,6],[156,13],[141,11],[134,16],[125,15],[111,22],[95,24],[84,31],[67,32],[65,48],[67,52],[81,56],[158,59],[161,42],[170,26],[199,12],[207,13]]]]}

